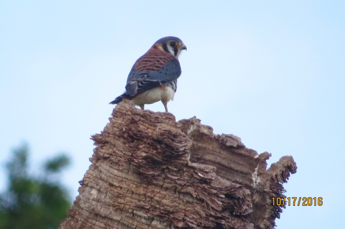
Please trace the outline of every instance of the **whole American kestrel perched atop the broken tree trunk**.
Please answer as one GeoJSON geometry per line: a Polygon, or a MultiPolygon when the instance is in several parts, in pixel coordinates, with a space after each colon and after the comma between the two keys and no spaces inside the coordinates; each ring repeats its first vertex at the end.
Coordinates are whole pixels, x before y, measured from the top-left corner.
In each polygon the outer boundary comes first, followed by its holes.
{"type": "Polygon", "coordinates": [[[126,91],[109,104],[129,99],[144,110],[145,104],[162,101],[168,112],[167,103],[174,99],[177,78],[181,75],[178,56],[182,50],[187,47],[178,37],[167,36],[156,41],[134,63],[128,74],[126,91]]]}

